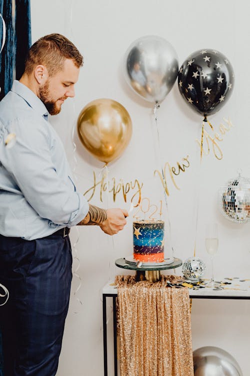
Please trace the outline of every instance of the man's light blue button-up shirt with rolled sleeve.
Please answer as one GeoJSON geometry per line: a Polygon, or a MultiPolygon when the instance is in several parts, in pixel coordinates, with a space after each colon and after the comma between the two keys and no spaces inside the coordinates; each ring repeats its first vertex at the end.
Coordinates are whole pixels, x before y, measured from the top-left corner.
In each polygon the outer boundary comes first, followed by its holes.
{"type": "Polygon", "coordinates": [[[1,235],[42,238],[76,225],[88,212],[47,115],[40,99],[18,81],[0,102],[1,235]],[[10,133],[16,141],[8,147],[10,133]]]}

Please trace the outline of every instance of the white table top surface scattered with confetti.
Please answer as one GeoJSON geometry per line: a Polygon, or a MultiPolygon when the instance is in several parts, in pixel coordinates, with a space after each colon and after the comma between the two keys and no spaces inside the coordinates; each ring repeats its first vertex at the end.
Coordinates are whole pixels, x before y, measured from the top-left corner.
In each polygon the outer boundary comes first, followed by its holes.
{"type": "MultiPolygon", "coordinates": [[[[217,299],[250,299],[250,279],[241,278],[221,278],[218,281],[228,284],[220,286],[221,290],[211,287],[188,288],[191,298],[217,298],[217,299]],[[230,283],[230,284],[229,284],[230,283]]],[[[102,294],[117,295],[117,288],[109,282],[102,288],[102,294]]]]}

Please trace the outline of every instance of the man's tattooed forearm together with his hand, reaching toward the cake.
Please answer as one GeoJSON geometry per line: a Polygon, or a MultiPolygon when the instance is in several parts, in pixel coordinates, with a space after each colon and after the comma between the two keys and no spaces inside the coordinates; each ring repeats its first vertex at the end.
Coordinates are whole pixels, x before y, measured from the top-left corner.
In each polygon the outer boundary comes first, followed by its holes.
{"type": "Polygon", "coordinates": [[[123,229],[126,224],[126,217],[128,217],[128,213],[123,209],[104,210],[94,205],[89,205],[86,217],[78,225],[97,225],[105,234],[114,235],[123,229]]]}

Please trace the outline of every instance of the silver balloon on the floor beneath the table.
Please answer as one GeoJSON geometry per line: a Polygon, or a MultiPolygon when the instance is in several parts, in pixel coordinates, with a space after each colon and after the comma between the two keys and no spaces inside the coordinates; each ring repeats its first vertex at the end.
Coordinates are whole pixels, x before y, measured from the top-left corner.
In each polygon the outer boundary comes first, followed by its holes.
{"type": "Polygon", "coordinates": [[[225,350],[204,346],[193,351],[194,376],[242,376],[236,360],[225,350]]]}

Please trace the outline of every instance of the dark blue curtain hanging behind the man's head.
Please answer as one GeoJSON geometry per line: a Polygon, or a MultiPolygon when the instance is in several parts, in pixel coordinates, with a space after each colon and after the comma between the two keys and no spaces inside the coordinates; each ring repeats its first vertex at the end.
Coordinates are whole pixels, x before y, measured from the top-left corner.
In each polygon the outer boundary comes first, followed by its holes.
{"type": "MultiPolygon", "coordinates": [[[[5,45],[0,54],[0,100],[11,89],[13,79],[19,80],[24,71],[25,56],[31,46],[29,1],[0,0],[0,14],[6,25],[5,45]]],[[[0,19],[0,46],[2,37],[2,22],[0,19]]],[[[1,332],[0,376],[4,376],[1,332]]]]}

